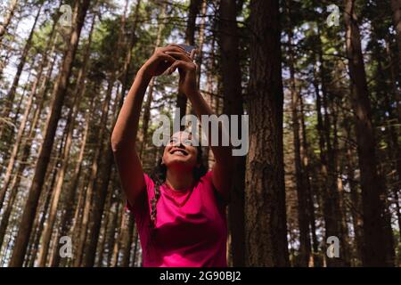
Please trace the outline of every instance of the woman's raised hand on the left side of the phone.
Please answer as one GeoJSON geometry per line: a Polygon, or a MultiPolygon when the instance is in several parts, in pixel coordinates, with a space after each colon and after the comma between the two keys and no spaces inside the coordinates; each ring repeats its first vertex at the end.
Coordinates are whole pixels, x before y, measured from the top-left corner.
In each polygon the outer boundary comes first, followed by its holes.
{"type": "Polygon", "coordinates": [[[148,77],[160,76],[176,61],[174,57],[168,55],[166,52],[182,51],[183,48],[175,44],[157,47],[155,52],[151,55],[151,58],[143,64],[141,69],[148,77]]]}

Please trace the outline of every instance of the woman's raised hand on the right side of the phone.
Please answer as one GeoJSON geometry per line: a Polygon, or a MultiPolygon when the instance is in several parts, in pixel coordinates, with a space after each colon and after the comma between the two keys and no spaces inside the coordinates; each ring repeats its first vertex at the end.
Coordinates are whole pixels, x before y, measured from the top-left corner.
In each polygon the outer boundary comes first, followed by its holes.
{"type": "Polygon", "coordinates": [[[196,84],[197,65],[195,62],[193,62],[193,57],[196,50],[193,49],[192,53],[188,54],[185,52],[184,48],[179,45],[176,46],[180,47],[183,52],[165,52],[168,55],[176,58],[176,61],[167,70],[167,73],[171,74],[178,69],[178,72],[180,73],[178,90],[184,93],[186,96],[189,96],[198,90],[198,85],[196,84]]]}

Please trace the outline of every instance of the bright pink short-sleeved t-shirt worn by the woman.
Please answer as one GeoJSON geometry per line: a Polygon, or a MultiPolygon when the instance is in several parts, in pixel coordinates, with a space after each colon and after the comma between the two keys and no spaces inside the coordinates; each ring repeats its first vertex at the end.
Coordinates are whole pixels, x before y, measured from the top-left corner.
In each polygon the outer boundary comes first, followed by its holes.
{"type": "Polygon", "coordinates": [[[146,191],[142,199],[138,199],[135,207],[127,203],[135,216],[143,248],[143,266],[227,266],[226,203],[212,184],[212,172],[184,191],[175,191],[166,184],[160,186],[151,240],[149,224],[154,183],[148,175],[144,175],[144,180],[146,191]]]}

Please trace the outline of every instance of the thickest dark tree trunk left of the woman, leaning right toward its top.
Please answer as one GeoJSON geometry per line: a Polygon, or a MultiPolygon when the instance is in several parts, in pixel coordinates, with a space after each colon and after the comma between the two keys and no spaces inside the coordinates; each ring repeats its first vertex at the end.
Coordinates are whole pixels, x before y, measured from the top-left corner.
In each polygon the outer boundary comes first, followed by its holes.
{"type": "Polygon", "coordinates": [[[61,117],[62,103],[69,85],[72,62],[74,61],[75,53],[77,51],[78,40],[81,29],[84,26],[84,20],[86,18],[86,11],[89,7],[89,2],[90,0],[83,0],[82,4],[78,7],[78,15],[74,25],[75,28],[71,34],[69,48],[64,55],[61,66],[61,76],[54,85],[52,110],[47,119],[44,141],[39,151],[35,175],[32,185],[29,189],[29,196],[22,214],[20,230],[12,250],[12,259],[10,262],[11,266],[21,266],[27,250],[29,235],[32,231],[32,222],[37,211],[37,200],[39,199],[40,192],[44,184],[45,172],[48,167],[50,153],[52,151],[57,123],[61,117]]]}

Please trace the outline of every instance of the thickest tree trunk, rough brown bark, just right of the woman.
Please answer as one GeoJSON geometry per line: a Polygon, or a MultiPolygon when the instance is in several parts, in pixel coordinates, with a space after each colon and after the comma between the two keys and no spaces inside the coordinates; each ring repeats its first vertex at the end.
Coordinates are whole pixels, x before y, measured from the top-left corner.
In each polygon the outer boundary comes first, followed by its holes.
{"type": "Polygon", "coordinates": [[[245,191],[245,252],[249,266],[289,265],[279,16],[278,0],[250,2],[250,151],[245,191]]]}

